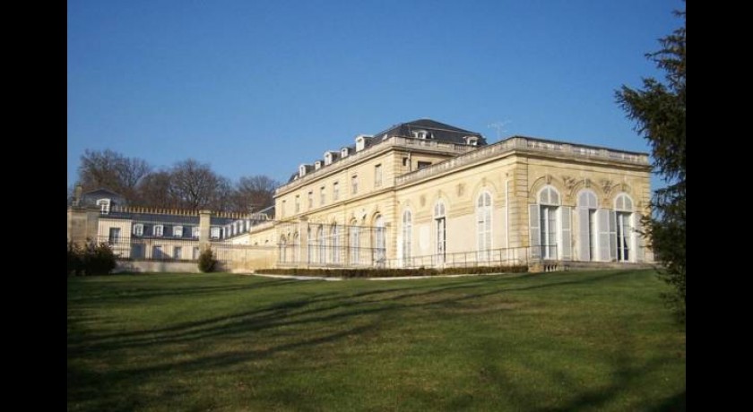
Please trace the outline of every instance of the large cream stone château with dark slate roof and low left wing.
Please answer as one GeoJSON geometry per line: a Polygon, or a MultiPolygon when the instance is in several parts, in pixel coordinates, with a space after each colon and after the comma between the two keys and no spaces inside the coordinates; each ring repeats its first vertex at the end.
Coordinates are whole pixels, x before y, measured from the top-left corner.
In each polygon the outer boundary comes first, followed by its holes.
{"type": "Polygon", "coordinates": [[[105,213],[101,199],[96,226],[108,239],[119,227],[118,244],[127,234],[120,252],[131,262],[190,262],[212,245],[238,271],[650,262],[637,232],[650,170],[646,153],[525,136],[488,144],[420,119],[300,164],[263,214],[142,210],[151,217],[140,219],[127,207],[105,213]],[[193,218],[170,224],[178,215],[193,218]]]}

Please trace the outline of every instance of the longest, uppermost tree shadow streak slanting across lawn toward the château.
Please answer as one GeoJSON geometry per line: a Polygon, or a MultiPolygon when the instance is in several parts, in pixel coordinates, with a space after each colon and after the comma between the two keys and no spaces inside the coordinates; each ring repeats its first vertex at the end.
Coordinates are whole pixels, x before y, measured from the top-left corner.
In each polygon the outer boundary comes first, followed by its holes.
{"type": "MultiPolygon", "coordinates": [[[[389,313],[421,307],[447,307],[457,309],[458,304],[483,297],[501,295],[510,291],[558,288],[565,285],[587,284],[624,273],[607,273],[597,277],[562,280],[515,288],[492,288],[487,292],[463,296],[441,296],[463,289],[489,288],[489,284],[505,283],[508,279],[467,280],[446,286],[420,285],[411,288],[387,288],[358,293],[329,292],[314,297],[292,299],[263,308],[217,316],[195,322],[182,322],[160,329],[134,330],[94,336],[69,337],[68,354],[97,350],[117,350],[146,346],[187,343],[195,339],[238,336],[272,328],[305,325],[308,323],[348,322],[354,316],[389,313]],[[368,299],[364,299],[368,297],[368,299]],[[376,297],[376,298],[375,298],[376,297]],[[411,302],[413,300],[414,302],[411,302]]],[[[297,281],[294,281],[297,282],[297,281]]],[[[69,319],[69,322],[76,322],[69,319]]]]}

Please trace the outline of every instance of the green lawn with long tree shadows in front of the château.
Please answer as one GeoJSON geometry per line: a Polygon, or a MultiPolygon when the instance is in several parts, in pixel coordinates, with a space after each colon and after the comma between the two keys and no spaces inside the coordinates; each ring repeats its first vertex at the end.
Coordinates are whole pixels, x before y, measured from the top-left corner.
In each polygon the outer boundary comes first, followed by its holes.
{"type": "Polygon", "coordinates": [[[68,280],[68,410],[681,410],[651,270],[68,280]]]}

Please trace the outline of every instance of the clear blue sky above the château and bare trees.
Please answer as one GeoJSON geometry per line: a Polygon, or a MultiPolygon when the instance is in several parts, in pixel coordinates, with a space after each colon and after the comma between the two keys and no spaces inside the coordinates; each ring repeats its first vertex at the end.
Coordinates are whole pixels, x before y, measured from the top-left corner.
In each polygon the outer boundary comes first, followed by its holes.
{"type": "MultiPolygon", "coordinates": [[[[679,0],[68,0],[68,185],[83,150],[286,181],[428,117],[648,151],[617,106],[679,0]]],[[[655,179],[654,179],[655,187],[655,179]]]]}

